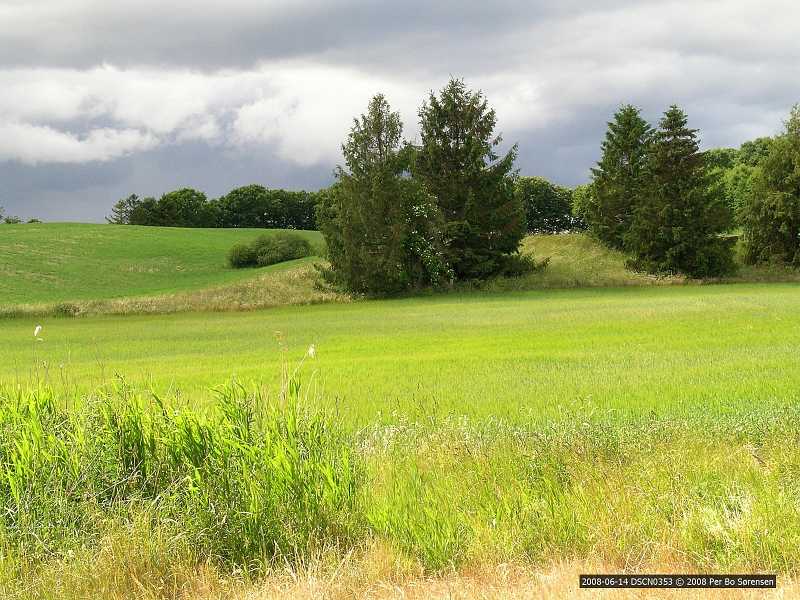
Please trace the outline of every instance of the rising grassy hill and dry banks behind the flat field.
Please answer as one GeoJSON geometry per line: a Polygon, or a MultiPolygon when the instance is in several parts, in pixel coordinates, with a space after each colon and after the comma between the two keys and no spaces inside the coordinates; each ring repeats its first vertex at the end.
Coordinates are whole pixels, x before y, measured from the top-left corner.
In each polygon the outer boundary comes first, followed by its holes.
{"type": "MultiPolygon", "coordinates": [[[[265,269],[228,269],[235,243],[261,229],[180,229],[80,223],[0,226],[0,317],[240,311],[347,301],[320,286],[312,257],[265,269]]],[[[301,232],[319,249],[317,231],[301,232]]],[[[626,256],[586,235],[528,236],[524,252],[548,259],[539,272],[457,285],[456,292],[675,285],[625,268],[626,256]]],[[[745,266],[724,282],[800,281],[780,267],[745,266]]],[[[429,292],[430,290],[428,290],[429,292]]],[[[423,290],[423,293],[426,291],[423,290]]]]}

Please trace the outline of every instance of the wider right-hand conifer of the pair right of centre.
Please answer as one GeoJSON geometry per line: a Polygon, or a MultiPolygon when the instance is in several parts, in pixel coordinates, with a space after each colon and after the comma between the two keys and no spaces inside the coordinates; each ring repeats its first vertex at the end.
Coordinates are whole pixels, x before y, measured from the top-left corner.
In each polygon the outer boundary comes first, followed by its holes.
{"type": "Polygon", "coordinates": [[[624,240],[633,265],[654,273],[711,277],[733,269],[733,228],[718,172],[700,152],[696,130],[673,105],[648,149],[642,194],[624,240]]]}

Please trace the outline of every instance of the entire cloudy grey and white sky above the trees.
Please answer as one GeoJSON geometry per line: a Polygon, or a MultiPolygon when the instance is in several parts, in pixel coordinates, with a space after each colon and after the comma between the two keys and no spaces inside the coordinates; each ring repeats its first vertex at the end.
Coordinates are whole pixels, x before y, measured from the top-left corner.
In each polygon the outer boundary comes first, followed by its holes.
{"type": "Polygon", "coordinates": [[[104,222],[192,187],[334,181],[384,94],[405,137],[451,78],[521,176],[585,184],[607,121],[677,104],[701,148],[776,135],[800,102],[797,0],[0,0],[0,206],[104,222]]]}

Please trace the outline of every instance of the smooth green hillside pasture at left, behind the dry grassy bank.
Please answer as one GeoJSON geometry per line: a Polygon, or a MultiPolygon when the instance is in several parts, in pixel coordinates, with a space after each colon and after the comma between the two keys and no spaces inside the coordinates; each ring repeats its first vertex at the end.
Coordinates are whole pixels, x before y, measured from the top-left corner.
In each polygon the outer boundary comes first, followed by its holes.
{"type": "MultiPolygon", "coordinates": [[[[193,290],[252,277],[228,249],[263,229],[27,223],[0,227],[0,306],[193,290]]],[[[301,232],[315,246],[316,231],[301,232]]]]}

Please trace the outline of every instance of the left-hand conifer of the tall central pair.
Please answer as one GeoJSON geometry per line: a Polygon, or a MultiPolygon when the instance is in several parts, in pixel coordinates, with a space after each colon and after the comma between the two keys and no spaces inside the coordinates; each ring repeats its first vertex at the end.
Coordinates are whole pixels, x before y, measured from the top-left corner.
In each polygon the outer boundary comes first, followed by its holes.
{"type": "Polygon", "coordinates": [[[317,209],[330,277],[359,292],[393,293],[436,279],[441,270],[429,197],[408,177],[413,148],[400,114],[383,95],[369,103],[342,145],[347,170],[317,209]]]}

